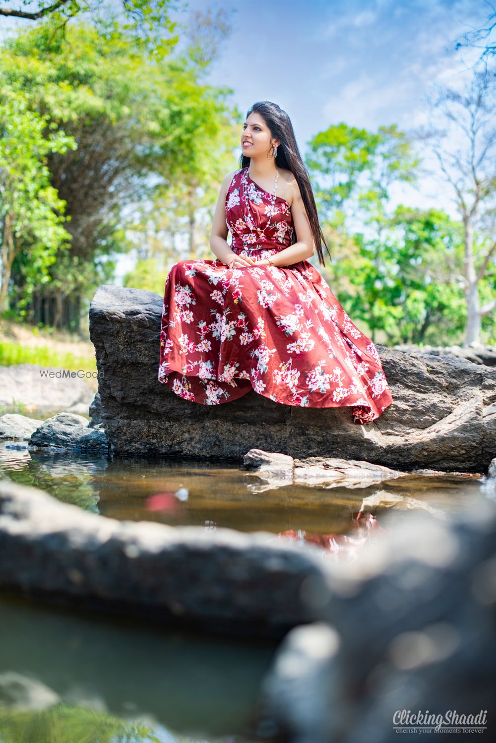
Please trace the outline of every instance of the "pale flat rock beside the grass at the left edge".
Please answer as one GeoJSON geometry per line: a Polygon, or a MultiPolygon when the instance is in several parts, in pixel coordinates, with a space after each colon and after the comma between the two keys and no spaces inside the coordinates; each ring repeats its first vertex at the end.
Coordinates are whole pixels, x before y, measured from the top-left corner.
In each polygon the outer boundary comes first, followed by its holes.
{"type": "Polygon", "coordinates": [[[22,403],[29,409],[48,411],[84,407],[88,412],[93,392],[74,374],[71,377],[67,369],[36,364],[0,366],[0,406],[22,403]]]}

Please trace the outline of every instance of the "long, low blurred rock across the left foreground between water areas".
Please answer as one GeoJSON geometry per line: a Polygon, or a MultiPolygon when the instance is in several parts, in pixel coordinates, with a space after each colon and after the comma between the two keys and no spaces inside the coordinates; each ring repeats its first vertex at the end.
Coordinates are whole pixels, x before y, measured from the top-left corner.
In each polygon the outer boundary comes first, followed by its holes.
{"type": "Polygon", "coordinates": [[[238,634],[314,620],[301,585],[325,569],[273,534],[120,522],[6,480],[0,544],[1,591],[238,634]]]}

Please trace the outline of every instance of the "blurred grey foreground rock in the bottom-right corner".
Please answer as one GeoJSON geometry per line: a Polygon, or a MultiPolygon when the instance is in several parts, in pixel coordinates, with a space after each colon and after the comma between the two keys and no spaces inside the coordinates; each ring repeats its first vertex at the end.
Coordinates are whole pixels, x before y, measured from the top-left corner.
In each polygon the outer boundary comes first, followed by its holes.
{"type": "MultiPolygon", "coordinates": [[[[354,562],[330,564],[325,585],[306,585],[324,622],[287,635],[264,684],[264,725],[289,743],[392,743],[406,732],[394,717],[402,710],[491,714],[494,502],[454,525],[427,514],[389,525],[354,562]]],[[[412,727],[417,737],[466,741],[463,724],[451,722],[458,733],[450,723],[440,733],[412,727]]]]}

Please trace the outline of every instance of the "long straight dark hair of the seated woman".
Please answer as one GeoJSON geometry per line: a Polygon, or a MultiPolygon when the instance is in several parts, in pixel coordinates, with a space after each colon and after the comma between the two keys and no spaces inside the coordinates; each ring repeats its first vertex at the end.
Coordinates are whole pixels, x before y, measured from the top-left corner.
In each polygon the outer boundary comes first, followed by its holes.
{"type": "MultiPolygon", "coordinates": [[[[277,103],[271,103],[270,100],[261,100],[258,101],[258,103],[254,103],[247,111],[247,118],[249,117],[249,114],[253,113],[253,111],[256,111],[261,115],[270,129],[270,134],[272,134],[274,139],[278,139],[281,142],[277,148],[275,164],[280,168],[290,170],[296,178],[301,198],[303,199],[305,210],[307,212],[308,221],[310,222],[313,240],[316,244],[319,263],[324,266],[325,262],[321,242],[324,243],[327,253],[329,253],[329,248],[327,247],[327,243],[320,228],[319,215],[317,214],[315,198],[313,198],[310,178],[301,158],[298,145],[296,144],[295,132],[290,117],[287,115],[286,111],[279,108],[277,103]]],[[[246,155],[241,154],[239,162],[241,167],[245,168],[249,165],[249,158],[246,155]]],[[[293,230],[293,241],[291,244],[293,245],[295,242],[296,233],[293,230]]],[[[330,253],[329,257],[332,261],[333,257],[330,253]]]]}

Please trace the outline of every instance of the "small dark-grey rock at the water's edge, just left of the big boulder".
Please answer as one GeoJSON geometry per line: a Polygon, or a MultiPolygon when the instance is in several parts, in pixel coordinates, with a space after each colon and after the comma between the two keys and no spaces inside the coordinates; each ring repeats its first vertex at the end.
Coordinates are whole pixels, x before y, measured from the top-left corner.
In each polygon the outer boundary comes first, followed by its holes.
{"type": "Polygon", "coordinates": [[[74,413],[57,413],[32,433],[29,447],[56,448],[78,452],[108,450],[105,432],[90,428],[87,418],[74,413]]]}

